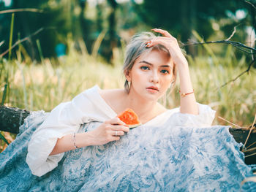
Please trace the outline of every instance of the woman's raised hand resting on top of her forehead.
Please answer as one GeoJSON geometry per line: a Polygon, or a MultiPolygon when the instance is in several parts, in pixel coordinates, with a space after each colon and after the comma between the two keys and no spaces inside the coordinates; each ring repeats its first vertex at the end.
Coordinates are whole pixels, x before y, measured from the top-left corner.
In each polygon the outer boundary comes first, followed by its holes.
{"type": "Polygon", "coordinates": [[[154,32],[162,34],[163,37],[157,37],[152,39],[150,42],[147,43],[146,47],[152,47],[157,44],[161,44],[169,50],[170,57],[173,58],[174,64],[177,66],[179,64],[187,64],[187,59],[184,57],[183,53],[181,52],[180,47],[178,46],[177,39],[169,34],[167,31],[154,28],[151,29],[154,32]]]}

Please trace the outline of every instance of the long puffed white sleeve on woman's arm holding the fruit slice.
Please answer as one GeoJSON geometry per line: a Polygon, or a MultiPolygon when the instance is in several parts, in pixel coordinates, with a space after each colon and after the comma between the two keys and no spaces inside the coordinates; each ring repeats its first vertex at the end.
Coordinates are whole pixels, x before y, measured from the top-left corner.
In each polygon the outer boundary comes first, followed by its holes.
{"type": "Polygon", "coordinates": [[[89,92],[84,91],[75,96],[72,101],[59,104],[50,112],[42,125],[34,131],[26,156],[26,163],[32,174],[42,176],[58,166],[64,153],[50,155],[57,139],[77,132],[83,123],[105,119],[104,115],[101,115],[99,109],[86,96],[89,92]]]}

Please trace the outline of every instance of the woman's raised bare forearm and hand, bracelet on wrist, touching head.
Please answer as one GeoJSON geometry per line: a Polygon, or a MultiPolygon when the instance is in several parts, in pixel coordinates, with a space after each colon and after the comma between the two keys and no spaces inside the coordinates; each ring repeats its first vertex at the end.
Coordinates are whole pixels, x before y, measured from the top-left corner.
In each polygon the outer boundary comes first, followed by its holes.
{"type": "MultiPolygon", "coordinates": [[[[170,57],[173,63],[176,64],[178,68],[178,75],[180,79],[180,91],[181,93],[191,93],[193,92],[192,82],[189,75],[189,65],[187,59],[181,52],[178,46],[177,39],[170,35],[167,31],[154,28],[152,31],[162,34],[164,37],[157,37],[152,39],[150,46],[161,44],[164,45],[170,53],[170,57]]],[[[193,115],[198,114],[198,106],[195,100],[195,93],[191,93],[187,96],[181,96],[181,113],[189,113],[193,115]]]]}

